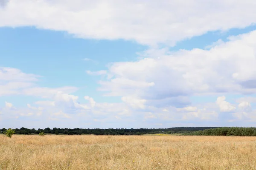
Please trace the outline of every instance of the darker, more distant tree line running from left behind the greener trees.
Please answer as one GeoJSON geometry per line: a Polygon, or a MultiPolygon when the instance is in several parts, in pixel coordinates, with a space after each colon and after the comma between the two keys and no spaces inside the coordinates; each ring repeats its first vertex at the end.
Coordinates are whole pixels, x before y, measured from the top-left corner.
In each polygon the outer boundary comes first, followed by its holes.
{"type": "MultiPolygon", "coordinates": [[[[217,127],[171,127],[171,128],[158,128],[158,129],[147,129],[147,128],[140,128],[140,129],[81,129],[81,128],[52,128],[49,127],[45,129],[28,129],[25,127],[21,127],[20,129],[16,128],[15,134],[39,134],[39,133],[45,133],[45,134],[65,134],[65,135],[82,135],[82,134],[94,134],[94,135],[143,135],[143,134],[156,134],[156,133],[190,133],[190,132],[196,132],[198,130],[206,130],[206,129],[212,129],[217,127]]],[[[5,133],[6,128],[0,129],[0,133],[5,133]]]]}

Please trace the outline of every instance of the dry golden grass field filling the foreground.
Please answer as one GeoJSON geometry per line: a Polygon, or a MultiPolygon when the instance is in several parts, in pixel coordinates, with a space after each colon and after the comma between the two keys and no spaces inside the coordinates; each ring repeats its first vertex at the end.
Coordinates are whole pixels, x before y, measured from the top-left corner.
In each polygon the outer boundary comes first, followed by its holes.
{"type": "Polygon", "coordinates": [[[256,137],[0,135],[1,170],[256,170],[256,137]]]}

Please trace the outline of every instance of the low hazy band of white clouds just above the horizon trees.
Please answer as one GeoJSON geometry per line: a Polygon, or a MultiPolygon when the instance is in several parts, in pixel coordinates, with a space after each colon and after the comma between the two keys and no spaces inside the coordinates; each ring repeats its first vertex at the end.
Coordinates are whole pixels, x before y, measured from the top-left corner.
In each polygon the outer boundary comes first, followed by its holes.
{"type": "MultiPolygon", "coordinates": [[[[162,123],[164,125],[163,127],[168,127],[172,125],[170,124],[171,122],[195,121],[197,125],[204,125],[202,121],[204,121],[204,123],[230,121],[229,119],[218,119],[219,115],[226,115],[227,113],[218,113],[217,103],[190,105],[184,108],[175,108],[173,106],[156,108],[153,105],[144,105],[143,110],[141,110],[140,107],[133,107],[130,103],[126,102],[97,103],[89,96],[84,96],[84,99],[89,100],[90,105],[78,103],[79,105],[87,106],[87,108],[76,107],[74,108],[74,112],[70,112],[67,110],[67,107],[62,107],[61,105],[52,105],[50,101],[38,101],[36,104],[42,104],[44,108],[41,106],[35,107],[30,104],[27,105],[27,108],[8,109],[6,107],[0,110],[3,113],[1,117],[5,119],[8,118],[9,120],[19,120],[20,117],[24,117],[23,119],[29,119],[30,121],[39,119],[41,125],[44,126],[46,126],[45,122],[48,120],[54,122],[54,126],[56,126],[58,122],[63,123],[67,121],[67,119],[73,122],[72,125],[75,125],[74,122],[83,121],[85,123],[101,122],[104,123],[104,125],[110,124],[109,127],[113,127],[113,124],[118,127],[120,127],[120,125],[125,125],[125,127],[134,127],[134,125],[140,125],[139,127],[151,127],[152,123],[162,123]],[[66,109],[67,112],[62,109],[66,109]],[[133,124],[129,124],[129,122],[133,122],[133,124]]],[[[224,98],[218,98],[218,100],[221,102],[225,101],[224,98]]],[[[241,102],[237,104],[237,108],[239,109],[233,111],[233,123],[239,120],[250,121],[256,119],[256,112],[247,109],[250,108],[250,103],[241,102]]],[[[106,126],[90,124],[90,127],[105,128],[106,126]]]]}

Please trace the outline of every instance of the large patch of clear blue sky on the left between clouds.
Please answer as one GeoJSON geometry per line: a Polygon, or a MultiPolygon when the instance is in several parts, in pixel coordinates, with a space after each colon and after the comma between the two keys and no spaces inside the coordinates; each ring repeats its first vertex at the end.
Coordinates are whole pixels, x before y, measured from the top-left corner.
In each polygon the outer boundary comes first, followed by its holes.
{"type": "MultiPolygon", "coordinates": [[[[97,81],[103,77],[92,77],[86,71],[105,70],[111,62],[137,60],[136,52],[146,49],[135,42],[86,40],[63,31],[35,27],[0,28],[0,39],[2,65],[40,75],[37,84],[42,87],[76,86],[79,90],[74,94],[93,95],[99,102],[118,102],[119,99],[104,99],[96,90],[97,81]]],[[[17,99],[16,103],[26,102],[17,99]]]]}

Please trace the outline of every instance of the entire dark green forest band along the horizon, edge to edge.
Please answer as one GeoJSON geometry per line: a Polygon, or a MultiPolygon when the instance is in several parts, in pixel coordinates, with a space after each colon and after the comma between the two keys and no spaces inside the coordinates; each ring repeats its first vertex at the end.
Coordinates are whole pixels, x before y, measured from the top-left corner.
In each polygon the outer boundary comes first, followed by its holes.
{"type": "MultiPolygon", "coordinates": [[[[5,131],[6,128],[0,129],[0,133],[4,133],[5,131]]],[[[186,136],[256,136],[256,127],[171,127],[166,129],[70,129],[56,127],[50,129],[47,127],[45,129],[38,130],[21,127],[20,129],[15,129],[15,134],[32,135],[39,134],[40,132],[56,135],[144,135],[157,133],[179,133],[186,136]]]]}

